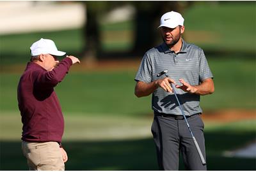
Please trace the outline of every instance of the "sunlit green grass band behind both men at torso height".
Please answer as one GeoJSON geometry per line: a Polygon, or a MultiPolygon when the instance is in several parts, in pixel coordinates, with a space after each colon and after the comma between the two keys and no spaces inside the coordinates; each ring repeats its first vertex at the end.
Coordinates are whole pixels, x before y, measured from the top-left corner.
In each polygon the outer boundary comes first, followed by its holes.
{"type": "MultiPolygon", "coordinates": [[[[223,59],[223,58],[221,58],[223,59]]],[[[255,59],[209,59],[215,92],[201,96],[203,110],[255,109],[255,59]]],[[[0,109],[17,110],[20,74],[0,74],[0,109]]],[[[72,72],[56,87],[63,111],[95,114],[148,115],[151,96],[134,96],[136,71],[72,72]]]]}

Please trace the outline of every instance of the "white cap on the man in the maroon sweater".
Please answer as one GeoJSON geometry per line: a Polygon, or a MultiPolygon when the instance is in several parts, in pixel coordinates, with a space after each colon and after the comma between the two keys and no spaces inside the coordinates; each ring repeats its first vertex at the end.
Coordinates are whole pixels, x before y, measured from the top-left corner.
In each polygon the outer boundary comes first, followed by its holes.
{"type": "Polygon", "coordinates": [[[39,41],[33,43],[30,47],[31,55],[40,55],[40,54],[51,54],[56,56],[65,55],[65,52],[58,51],[54,41],[51,39],[41,38],[39,41]]]}

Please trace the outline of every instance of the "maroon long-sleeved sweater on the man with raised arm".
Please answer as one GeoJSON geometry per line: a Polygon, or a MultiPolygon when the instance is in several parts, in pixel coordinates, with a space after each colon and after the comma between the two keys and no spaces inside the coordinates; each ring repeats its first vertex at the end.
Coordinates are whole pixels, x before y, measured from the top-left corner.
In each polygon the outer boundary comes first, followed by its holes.
{"type": "Polygon", "coordinates": [[[54,87],[63,80],[72,60],[66,57],[52,71],[29,62],[18,85],[18,102],[22,117],[22,140],[58,141],[64,131],[64,118],[54,87]]]}

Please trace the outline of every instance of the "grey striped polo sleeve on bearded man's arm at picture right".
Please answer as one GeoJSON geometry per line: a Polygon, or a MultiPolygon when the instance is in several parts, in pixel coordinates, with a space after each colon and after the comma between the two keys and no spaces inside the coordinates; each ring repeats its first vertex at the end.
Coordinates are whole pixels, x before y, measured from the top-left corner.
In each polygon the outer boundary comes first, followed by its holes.
{"type": "Polygon", "coordinates": [[[199,63],[199,79],[200,82],[203,82],[204,80],[208,79],[208,78],[213,78],[211,69],[209,68],[207,59],[204,55],[204,51],[202,49],[200,49],[200,63],[199,63]]]}

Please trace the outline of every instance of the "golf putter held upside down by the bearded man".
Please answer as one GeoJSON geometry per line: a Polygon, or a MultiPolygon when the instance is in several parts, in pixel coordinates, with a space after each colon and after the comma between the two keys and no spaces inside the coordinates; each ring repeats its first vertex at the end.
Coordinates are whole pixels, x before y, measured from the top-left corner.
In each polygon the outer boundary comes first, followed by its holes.
{"type": "MultiPolygon", "coordinates": [[[[157,77],[162,76],[162,75],[165,75],[166,77],[169,77],[168,75],[166,75],[166,73],[168,73],[168,70],[161,71],[161,73],[159,73],[159,74],[157,75],[157,77]]],[[[182,109],[182,106],[180,105],[180,101],[179,101],[179,99],[178,99],[178,97],[177,97],[177,94],[176,94],[176,91],[175,91],[175,89],[174,89],[173,83],[171,83],[171,87],[172,87],[173,93],[174,93],[174,95],[175,95],[175,97],[176,97],[176,100],[177,100],[177,102],[178,102],[178,104],[179,104],[179,107],[180,107],[180,110],[181,110],[181,112],[182,112],[182,115],[183,115],[183,117],[184,117],[184,119],[185,119],[185,121],[186,121],[186,124],[188,125],[188,130],[189,130],[189,132],[190,132],[190,134],[191,134],[191,136],[192,136],[192,138],[193,138],[193,141],[194,141],[195,146],[196,146],[196,150],[197,150],[197,152],[198,152],[198,154],[199,154],[199,156],[200,156],[200,159],[201,159],[201,161],[202,161],[202,164],[205,165],[206,162],[205,162],[204,156],[203,156],[203,154],[202,154],[202,152],[201,152],[201,150],[200,150],[200,147],[199,147],[199,145],[198,145],[198,143],[197,143],[197,141],[196,141],[196,138],[195,138],[194,134],[192,133],[192,131],[191,131],[191,129],[190,129],[190,126],[189,126],[189,124],[188,124],[188,120],[187,120],[186,115],[185,115],[185,113],[184,113],[184,111],[183,111],[183,109],[182,109]]]]}

